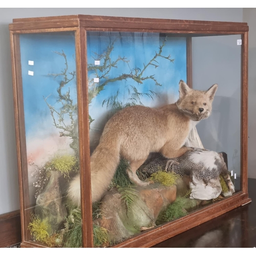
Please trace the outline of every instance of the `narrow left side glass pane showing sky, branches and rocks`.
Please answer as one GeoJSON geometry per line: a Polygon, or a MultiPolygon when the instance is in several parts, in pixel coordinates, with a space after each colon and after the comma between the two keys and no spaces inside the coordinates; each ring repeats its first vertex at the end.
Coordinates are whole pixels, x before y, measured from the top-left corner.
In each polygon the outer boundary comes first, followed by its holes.
{"type": "MultiPolygon", "coordinates": [[[[69,247],[70,229],[79,218],[81,227],[80,211],[66,196],[79,172],[74,33],[22,34],[20,56],[28,163],[23,180],[29,186],[24,190],[26,239],[69,247]]],[[[81,246],[79,237],[76,241],[81,246]]]]}

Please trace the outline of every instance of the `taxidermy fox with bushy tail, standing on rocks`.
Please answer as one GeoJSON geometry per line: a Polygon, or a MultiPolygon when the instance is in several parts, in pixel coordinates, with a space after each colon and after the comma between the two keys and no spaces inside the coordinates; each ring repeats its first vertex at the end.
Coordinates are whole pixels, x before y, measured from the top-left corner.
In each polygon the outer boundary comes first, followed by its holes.
{"type": "MultiPolygon", "coordinates": [[[[218,84],[214,84],[207,91],[193,90],[181,80],[180,96],[176,103],[158,109],[130,106],[110,118],[91,156],[92,201],[100,200],[108,189],[120,156],[130,163],[126,173],[131,181],[146,186],[149,183],[141,181],[136,170],[151,152],[175,158],[192,150],[183,145],[190,130],[211,114],[217,88],[218,84]]],[[[80,205],[79,175],[70,182],[68,196],[76,205],[80,205]]]]}

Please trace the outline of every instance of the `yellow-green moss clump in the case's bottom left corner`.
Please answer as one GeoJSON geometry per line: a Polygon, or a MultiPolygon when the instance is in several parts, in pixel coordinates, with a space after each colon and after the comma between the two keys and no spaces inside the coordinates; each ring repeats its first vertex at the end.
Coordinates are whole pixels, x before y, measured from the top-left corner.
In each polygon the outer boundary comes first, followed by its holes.
{"type": "Polygon", "coordinates": [[[41,221],[38,215],[31,215],[31,221],[28,225],[28,229],[30,230],[31,237],[35,241],[46,244],[50,237],[47,232],[48,228],[49,225],[45,220],[41,221]]]}

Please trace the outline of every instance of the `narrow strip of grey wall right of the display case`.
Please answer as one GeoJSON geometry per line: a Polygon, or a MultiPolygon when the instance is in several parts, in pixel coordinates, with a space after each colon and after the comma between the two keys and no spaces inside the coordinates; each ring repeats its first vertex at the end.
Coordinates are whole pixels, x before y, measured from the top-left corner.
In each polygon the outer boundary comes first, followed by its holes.
{"type": "Polygon", "coordinates": [[[249,25],[248,176],[256,179],[256,8],[243,8],[243,21],[249,25]]]}

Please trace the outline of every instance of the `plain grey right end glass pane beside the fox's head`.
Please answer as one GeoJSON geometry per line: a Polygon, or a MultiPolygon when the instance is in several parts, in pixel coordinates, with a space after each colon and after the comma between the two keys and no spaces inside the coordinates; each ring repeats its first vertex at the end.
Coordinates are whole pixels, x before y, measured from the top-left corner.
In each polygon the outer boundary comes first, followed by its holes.
{"type": "Polygon", "coordinates": [[[241,154],[241,35],[192,39],[193,87],[206,90],[218,83],[212,114],[197,125],[205,148],[225,152],[228,169],[240,190],[241,154]]]}

